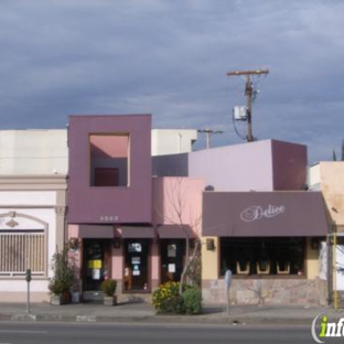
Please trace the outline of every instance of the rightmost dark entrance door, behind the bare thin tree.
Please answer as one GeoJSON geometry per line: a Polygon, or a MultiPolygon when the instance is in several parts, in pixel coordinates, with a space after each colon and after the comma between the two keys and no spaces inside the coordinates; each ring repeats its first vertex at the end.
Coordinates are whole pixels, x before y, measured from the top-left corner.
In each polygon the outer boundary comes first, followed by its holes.
{"type": "Polygon", "coordinates": [[[162,239],[160,241],[161,252],[161,283],[168,281],[180,281],[183,272],[185,256],[184,239],[162,239]]]}

